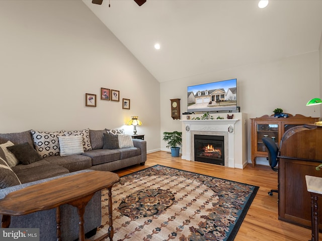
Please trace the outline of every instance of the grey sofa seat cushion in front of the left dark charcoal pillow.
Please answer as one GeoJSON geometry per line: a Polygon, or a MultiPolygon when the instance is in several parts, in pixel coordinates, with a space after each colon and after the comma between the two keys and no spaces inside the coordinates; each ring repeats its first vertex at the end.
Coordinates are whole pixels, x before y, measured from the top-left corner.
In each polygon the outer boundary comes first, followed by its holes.
{"type": "Polygon", "coordinates": [[[21,183],[33,182],[49,177],[59,176],[66,173],[69,173],[69,171],[66,168],[51,163],[47,165],[26,168],[16,172],[21,183]]]}

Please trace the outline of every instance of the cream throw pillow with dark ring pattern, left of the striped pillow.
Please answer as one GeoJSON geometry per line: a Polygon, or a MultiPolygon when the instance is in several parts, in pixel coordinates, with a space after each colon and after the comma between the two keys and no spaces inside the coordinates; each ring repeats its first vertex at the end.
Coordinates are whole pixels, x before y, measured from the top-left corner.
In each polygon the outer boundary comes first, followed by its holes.
{"type": "Polygon", "coordinates": [[[43,157],[59,156],[58,137],[63,136],[65,131],[37,132],[31,130],[36,151],[43,157]]]}

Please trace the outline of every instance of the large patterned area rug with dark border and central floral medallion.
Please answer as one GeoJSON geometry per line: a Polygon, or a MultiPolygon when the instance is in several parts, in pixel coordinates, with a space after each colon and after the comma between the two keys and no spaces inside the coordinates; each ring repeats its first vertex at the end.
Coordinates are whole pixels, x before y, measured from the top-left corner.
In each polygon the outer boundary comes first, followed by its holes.
{"type": "MultiPolygon", "coordinates": [[[[113,240],[233,240],[258,189],[160,165],[123,176],[112,188],[113,240]]],[[[108,227],[103,190],[102,225],[90,239],[108,227]]]]}

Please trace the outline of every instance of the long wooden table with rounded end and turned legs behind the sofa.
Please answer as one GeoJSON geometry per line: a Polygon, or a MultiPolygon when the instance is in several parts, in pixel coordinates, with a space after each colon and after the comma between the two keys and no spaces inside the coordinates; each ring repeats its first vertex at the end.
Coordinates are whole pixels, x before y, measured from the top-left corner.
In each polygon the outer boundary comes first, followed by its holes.
{"type": "Polygon", "coordinates": [[[78,240],[85,241],[85,206],[95,192],[107,188],[109,190],[109,229],[106,236],[113,240],[112,186],[119,180],[120,178],[116,173],[92,171],[61,177],[9,193],[4,199],[0,200],[0,213],[4,214],[2,227],[10,226],[11,215],[25,215],[56,208],[57,241],[60,241],[59,206],[70,204],[77,208],[79,215],[78,240]]]}

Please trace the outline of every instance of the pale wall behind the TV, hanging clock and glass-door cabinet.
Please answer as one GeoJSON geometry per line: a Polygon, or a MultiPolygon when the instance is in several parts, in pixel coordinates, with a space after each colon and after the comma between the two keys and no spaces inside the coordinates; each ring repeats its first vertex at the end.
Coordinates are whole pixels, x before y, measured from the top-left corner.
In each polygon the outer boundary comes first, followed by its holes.
{"type": "MultiPolygon", "coordinates": [[[[319,52],[315,51],[271,63],[240,66],[161,83],[160,133],[181,130],[180,121],[171,118],[169,99],[181,98],[181,112],[185,112],[187,86],[231,78],[237,78],[237,104],[249,118],[273,114],[277,107],[293,115],[319,117],[319,107],[305,106],[309,99],[320,96],[319,68],[319,52]]],[[[251,122],[248,123],[248,159],[251,162],[251,122]]],[[[164,141],[161,148],[166,149],[164,141]]]]}

